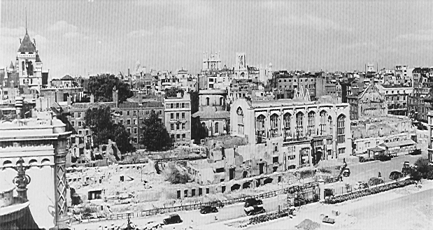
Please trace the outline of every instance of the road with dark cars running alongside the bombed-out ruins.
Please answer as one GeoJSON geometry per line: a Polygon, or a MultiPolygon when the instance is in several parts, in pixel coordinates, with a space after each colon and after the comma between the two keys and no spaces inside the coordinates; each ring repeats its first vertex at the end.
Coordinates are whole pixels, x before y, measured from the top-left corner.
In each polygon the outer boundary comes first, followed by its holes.
{"type": "MultiPolygon", "coordinates": [[[[425,157],[426,153],[423,153],[423,157],[425,157]]],[[[388,177],[392,171],[402,171],[404,161],[409,161],[412,165],[415,163],[416,159],[421,157],[420,155],[411,156],[404,155],[400,157],[392,158],[390,161],[371,161],[362,164],[349,164],[348,168],[350,168],[350,177],[343,178],[343,182],[336,182],[333,184],[328,184],[325,187],[334,187],[336,189],[341,189],[344,187],[345,183],[355,184],[358,181],[368,181],[369,178],[377,177],[378,172],[380,171],[383,178],[388,180],[388,177]]],[[[268,212],[278,210],[278,205],[281,205],[281,208],[284,206],[285,195],[275,196],[268,199],[263,199],[264,209],[268,212]]],[[[173,214],[173,213],[170,213],[173,214]]],[[[215,222],[223,222],[225,220],[233,220],[240,217],[246,217],[243,212],[243,203],[236,203],[234,205],[225,206],[224,208],[220,208],[218,213],[211,213],[202,215],[199,213],[199,210],[191,210],[191,211],[180,211],[178,212],[180,218],[183,220],[183,223],[180,224],[169,224],[164,227],[164,229],[185,229],[190,227],[191,225],[198,226],[204,224],[212,224],[215,222]],[[215,220],[215,216],[217,220],[215,220]],[[193,222],[192,222],[193,221],[193,222]]],[[[146,223],[150,221],[162,222],[166,215],[156,215],[150,217],[139,217],[132,219],[132,222],[138,224],[141,227],[144,227],[146,223]]],[[[90,222],[90,223],[82,223],[78,225],[72,226],[72,229],[76,230],[92,230],[98,229],[101,227],[110,227],[111,224],[122,225],[126,224],[127,220],[108,220],[101,222],[90,222]]]]}

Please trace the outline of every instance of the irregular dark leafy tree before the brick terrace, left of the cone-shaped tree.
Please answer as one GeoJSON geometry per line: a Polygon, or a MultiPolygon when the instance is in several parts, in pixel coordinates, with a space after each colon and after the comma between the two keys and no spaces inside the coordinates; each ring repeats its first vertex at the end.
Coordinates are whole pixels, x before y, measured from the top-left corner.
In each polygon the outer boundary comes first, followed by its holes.
{"type": "MultiPolygon", "coordinates": [[[[84,127],[90,127],[95,146],[108,143],[111,139],[118,145],[120,152],[134,152],[131,137],[121,124],[114,124],[111,120],[111,108],[100,107],[88,109],[84,117],[84,127]]],[[[116,157],[117,158],[117,157],[116,157]]]]}

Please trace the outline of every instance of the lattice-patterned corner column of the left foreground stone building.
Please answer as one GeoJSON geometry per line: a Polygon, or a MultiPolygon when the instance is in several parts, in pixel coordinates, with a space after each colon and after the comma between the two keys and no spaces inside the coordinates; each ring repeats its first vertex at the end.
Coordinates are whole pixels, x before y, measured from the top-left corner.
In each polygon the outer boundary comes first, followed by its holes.
{"type": "Polygon", "coordinates": [[[66,203],[66,137],[59,137],[54,143],[55,148],[55,226],[62,227],[69,220],[66,203]]]}

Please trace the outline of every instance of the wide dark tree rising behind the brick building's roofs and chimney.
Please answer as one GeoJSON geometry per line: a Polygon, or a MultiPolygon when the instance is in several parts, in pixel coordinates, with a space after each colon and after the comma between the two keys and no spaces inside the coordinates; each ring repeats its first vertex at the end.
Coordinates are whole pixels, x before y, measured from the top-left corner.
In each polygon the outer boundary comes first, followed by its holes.
{"type": "Polygon", "coordinates": [[[119,91],[119,103],[126,101],[134,93],[129,90],[129,85],[116,78],[113,74],[101,74],[90,77],[87,89],[94,96],[95,102],[113,101],[113,87],[119,91]]]}

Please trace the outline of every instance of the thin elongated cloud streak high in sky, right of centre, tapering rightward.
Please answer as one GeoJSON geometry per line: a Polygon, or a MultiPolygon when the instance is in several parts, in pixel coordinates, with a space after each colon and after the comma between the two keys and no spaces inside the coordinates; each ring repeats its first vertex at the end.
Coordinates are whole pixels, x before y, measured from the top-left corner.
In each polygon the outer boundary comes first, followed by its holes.
{"type": "Polygon", "coordinates": [[[300,27],[313,27],[314,29],[327,31],[352,31],[351,28],[344,27],[332,20],[326,18],[315,17],[313,15],[289,15],[281,17],[275,22],[277,25],[283,26],[300,26],[300,27]]]}

